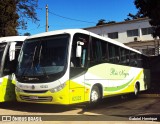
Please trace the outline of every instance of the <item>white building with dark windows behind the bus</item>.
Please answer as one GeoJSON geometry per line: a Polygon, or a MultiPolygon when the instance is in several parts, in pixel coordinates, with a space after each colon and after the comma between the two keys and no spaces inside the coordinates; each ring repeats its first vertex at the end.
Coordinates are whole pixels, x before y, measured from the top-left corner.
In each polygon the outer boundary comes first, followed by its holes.
{"type": "Polygon", "coordinates": [[[148,18],[104,24],[85,30],[115,39],[146,55],[159,54],[159,40],[152,37],[153,30],[148,18]]]}

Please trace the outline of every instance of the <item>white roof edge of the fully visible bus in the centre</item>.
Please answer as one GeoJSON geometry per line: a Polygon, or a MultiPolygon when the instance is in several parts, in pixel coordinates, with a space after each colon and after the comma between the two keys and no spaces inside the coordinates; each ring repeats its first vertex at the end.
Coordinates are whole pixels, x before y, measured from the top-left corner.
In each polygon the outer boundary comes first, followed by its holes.
{"type": "Polygon", "coordinates": [[[104,41],[107,41],[109,43],[112,43],[112,44],[115,44],[115,45],[118,45],[120,47],[123,47],[123,48],[126,48],[128,50],[131,50],[131,51],[134,51],[134,52],[137,52],[139,54],[142,54],[140,51],[138,50],[135,50],[133,48],[130,48],[126,45],[124,45],[123,43],[120,43],[118,41],[115,41],[111,38],[107,38],[107,37],[102,37],[100,35],[97,35],[95,33],[92,33],[92,32],[89,32],[87,30],[83,30],[83,29],[64,29],[64,30],[56,30],[56,31],[50,31],[50,32],[44,32],[44,33],[40,33],[40,34],[36,34],[36,35],[32,35],[32,36],[29,36],[27,39],[32,39],[32,38],[39,38],[39,37],[46,37],[46,36],[52,36],[52,35],[58,35],[58,34],[75,34],[75,33],[83,33],[83,34],[87,34],[87,35],[90,35],[90,36],[93,36],[93,37],[96,37],[98,39],[101,39],[101,40],[104,40],[104,41]]]}

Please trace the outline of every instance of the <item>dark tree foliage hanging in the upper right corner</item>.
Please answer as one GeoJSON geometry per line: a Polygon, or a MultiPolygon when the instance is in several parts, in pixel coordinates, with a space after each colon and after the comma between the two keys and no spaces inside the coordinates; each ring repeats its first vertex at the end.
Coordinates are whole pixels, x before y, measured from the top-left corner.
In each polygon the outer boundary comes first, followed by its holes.
{"type": "Polygon", "coordinates": [[[153,37],[160,37],[160,0],[135,0],[134,4],[140,14],[150,18],[153,37]]]}

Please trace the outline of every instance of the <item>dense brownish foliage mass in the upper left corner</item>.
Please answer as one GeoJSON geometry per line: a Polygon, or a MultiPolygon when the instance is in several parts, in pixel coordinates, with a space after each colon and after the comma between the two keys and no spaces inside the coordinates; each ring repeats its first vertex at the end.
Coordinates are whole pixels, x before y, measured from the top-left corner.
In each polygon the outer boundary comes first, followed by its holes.
{"type": "Polygon", "coordinates": [[[14,0],[0,1],[0,37],[17,35],[18,14],[14,0]]]}

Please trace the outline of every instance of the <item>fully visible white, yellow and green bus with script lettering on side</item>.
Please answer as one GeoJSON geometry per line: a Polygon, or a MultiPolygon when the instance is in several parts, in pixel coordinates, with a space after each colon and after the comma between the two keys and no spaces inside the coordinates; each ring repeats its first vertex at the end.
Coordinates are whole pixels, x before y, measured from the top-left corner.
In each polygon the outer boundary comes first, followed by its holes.
{"type": "Polygon", "coordinates": [[[147,90],[147,57],[109,38],[82,29],[27,38],[18,59],[16,98],[47,104],[96,103],[147,90]]]}

